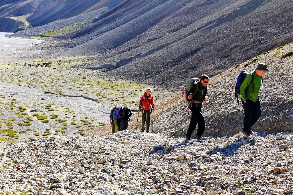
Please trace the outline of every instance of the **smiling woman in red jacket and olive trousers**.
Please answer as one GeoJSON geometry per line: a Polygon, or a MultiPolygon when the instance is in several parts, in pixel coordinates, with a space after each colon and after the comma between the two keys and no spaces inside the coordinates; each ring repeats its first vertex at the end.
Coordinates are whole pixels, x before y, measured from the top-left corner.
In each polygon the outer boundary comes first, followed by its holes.
{"type": "Polygon", "coordinates": [[[140,98],[139,106],[142,106],[142,132],[144,132],[144,123],[147,121],[147,133],[149,133],[149,124],[151,122],[151,108],[155,107],[154,97],[151,95],[151,88],[147,88],[144,95],[140,98]]]}

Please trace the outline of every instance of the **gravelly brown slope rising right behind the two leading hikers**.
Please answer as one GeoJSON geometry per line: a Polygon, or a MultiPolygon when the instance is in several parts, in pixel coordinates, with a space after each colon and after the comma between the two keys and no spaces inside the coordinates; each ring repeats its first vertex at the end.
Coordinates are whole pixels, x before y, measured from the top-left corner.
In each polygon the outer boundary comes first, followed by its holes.
{"type": "MultiPolygon", "coordinates": [[[[237,105],[234,97],[236,80],[242,70],[253,72],[260,62],[266,63],[269,71],[263,76],[260,88],[262,116],[253,126],[253,130],[263,133],[292,131],[293,55],[282,58],[285,53],[293,53],[292,51],[292,43],[275,48],[258,56],[255,62],[246,67],[244,67],[245,63],[242,63],[237,68],[210,78],[207,95],[209,101],[205,103],[203,109],[206,122],[204,136],[233,136],[242,130],[244,110],[241,103],[237,105]]],[[[159,107],[156,107],[154,113],[154,129],[157,132],[167,131],[170,135],[185,137],[188,104],[183,101],[181,91],[178,90],[180,88],[174,92],[176,95],[166,101],[155,102],[159,107]]],[[[193,136],[195,133],[196,130],[193,136]]]]}

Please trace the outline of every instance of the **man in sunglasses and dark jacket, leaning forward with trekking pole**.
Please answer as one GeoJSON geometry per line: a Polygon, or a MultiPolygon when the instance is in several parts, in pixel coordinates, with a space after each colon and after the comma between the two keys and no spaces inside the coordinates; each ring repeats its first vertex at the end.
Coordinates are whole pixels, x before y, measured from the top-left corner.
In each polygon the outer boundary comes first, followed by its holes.
{"type": "Polygon", "coordinates": [[[192,112],[189,128],[186,132],[185,140],[191,140],[190,136],[197,126],[196,138],[197,140],[201,140],[202,134],[205,131],[205,117],[202,115],[202,102],[207,102],[207,83],[209,82],[209,77],[207,75],[202,75],[200,81],[198,81],[194,88],[191,88],[190,91],[194,91],[188,95],[188,99],[190,100],[190,110],[192,112]]]}

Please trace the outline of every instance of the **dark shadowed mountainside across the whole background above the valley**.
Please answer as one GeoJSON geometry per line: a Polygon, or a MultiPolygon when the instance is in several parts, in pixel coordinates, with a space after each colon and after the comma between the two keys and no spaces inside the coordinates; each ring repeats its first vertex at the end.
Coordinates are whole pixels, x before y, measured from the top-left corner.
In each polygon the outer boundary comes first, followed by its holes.
{"type": "MultiPolygon", "coordinates": [[[[49,2],[27,20],[33,25],[51,23],[15,36],[54,37],[48,44],[54,41],[62,51],[45,51],[42,57],[91,55],[92,63],[82,67],[160,86],[178,87],[188,76],[219,74],[293,41],[291,0],[49,2]],[[107,9],[97,11],[102,7],[107,9]],[[85,14],[92,14],[86,24],[62,29],[76,25],[76,17],[85,20],[85,14]],[[62,20],[53,22],[57,19],[62,20]]],[[[12,5],[1,13],[8,8],[12,5]]]]}

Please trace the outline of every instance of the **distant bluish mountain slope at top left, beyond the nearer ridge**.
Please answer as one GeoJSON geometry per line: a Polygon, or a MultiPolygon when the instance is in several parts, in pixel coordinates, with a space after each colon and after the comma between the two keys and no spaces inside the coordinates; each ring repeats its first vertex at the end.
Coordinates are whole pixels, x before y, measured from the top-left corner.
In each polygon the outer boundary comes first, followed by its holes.
{"type": "MultiPolygon", "coordinates": [[[[14,36],[33,36],[38,33],[66,27],[89,17],[98,17],[104,11],[115,7],[123,0],[105,1],[3,1],[0,2],[0,16],[23,17],[31,26],[14,36]],[[90,13],[91,12],[91,13],[90,13]],[[62,20],[64,19],[64,20],[62,20]],[[51,23],[52,22],[52,23],[51,23]]],[[[90,20],[90,19],[89,19],[90,20]]],[[[91,19],[92,20],[92,19],[91,19]]],[[[91,21],[90,20],[90,21],[91,21]]],[[[0,26],[2,24],[0,23],[0,26]]],[[[19,25],[18,27],[20,27],[19,25]]],[[[12,32],[12,31],[10,31],[12,32]]]]}

